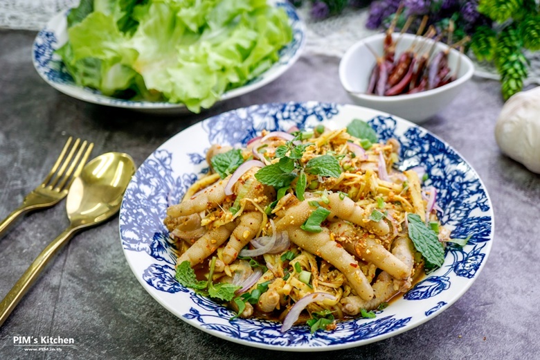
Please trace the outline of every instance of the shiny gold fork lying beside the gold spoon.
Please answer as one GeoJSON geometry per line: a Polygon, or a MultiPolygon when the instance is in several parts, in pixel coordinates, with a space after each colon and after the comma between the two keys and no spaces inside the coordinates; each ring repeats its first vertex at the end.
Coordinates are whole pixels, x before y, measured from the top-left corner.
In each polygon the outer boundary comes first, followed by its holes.
{"type": "Polygon", "coordinates": [[[55,165],[53,165],[45,180],[24,197],[24,201],[19,208],[13,210],[6,219],[0,222],[0,237],[20,215],[32,210],[50,208],[66,197],[71,181],[79,176],[93,148],[93,143],[88,144],[86,140],[80,145],[80,138],[78,138],[73,143],[71,150],[69,150],[72,140],[73,137],[69,136],[64,149],[62,149],[60,156],[58,156],[55,165]],[[84,151],[85,148],[86,151],[84,151]],[[75,155],[74,158],[73,155],[75,155]]]}

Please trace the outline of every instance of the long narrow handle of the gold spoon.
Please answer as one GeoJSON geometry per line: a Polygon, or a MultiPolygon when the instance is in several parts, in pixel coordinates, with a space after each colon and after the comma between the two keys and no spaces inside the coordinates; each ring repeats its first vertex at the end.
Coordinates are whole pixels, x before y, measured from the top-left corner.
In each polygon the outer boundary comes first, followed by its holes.
{"type": "Polygon", "coordinates": [[[34,262],[26,269],[23,276],[17,280],[10,292],[8,292],[8,295],[6,295],[0,303],[0,326],[6,321],[8,316],[10,316],[13,309],[15,309],[24,294],[26,294],[26,291],[33,285],[39,276],[39,273],[42,272],[49,260],[62,249],[62,246],[64,246],[74,234],[75,228],[72,228],[71,226],[66,228],[66,230],[58,235],[51,244],[48,244],[44,251],[37,255],[34,262]]]}

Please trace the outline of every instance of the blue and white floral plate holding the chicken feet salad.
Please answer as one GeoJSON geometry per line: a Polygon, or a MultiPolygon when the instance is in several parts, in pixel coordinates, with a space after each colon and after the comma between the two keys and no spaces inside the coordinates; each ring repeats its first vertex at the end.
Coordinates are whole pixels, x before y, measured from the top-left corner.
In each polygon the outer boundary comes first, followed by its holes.
{"type": "MultiPolygon", "coordinates": [[[[493,242],[491,201],[478,174],[447,143],[422,127],[379,111],[352,105],[288,102],[228,111],[188,127],[161,145],[138,169],[120,209],[120,237],[136,278],[163,307],[200,330],[222,339],[276,350],[336,350],[386,339],[428,321],[452,305],[478,278],[493,242]],[[369,120],[381,140],[397,138],[401,168],[422,165],[427,186],[439,190],[442,223],[451,237],[471,236],[463,248],[449,246],[444,265],[413,289],[377,312],[377,318],[341,321],[332,332],[309,333],[294,326],[280,333],[280,323],[237,318],[212,300],[174,279],[177,255],[163,226],[168,204],[208,172],[205,152],[211,144],[246,145],[262,129],[300,129],[323,124],[345,127],[354,118],[369,120]]],[[[474,311],[474,309],[471,309],[474,311]]]]}

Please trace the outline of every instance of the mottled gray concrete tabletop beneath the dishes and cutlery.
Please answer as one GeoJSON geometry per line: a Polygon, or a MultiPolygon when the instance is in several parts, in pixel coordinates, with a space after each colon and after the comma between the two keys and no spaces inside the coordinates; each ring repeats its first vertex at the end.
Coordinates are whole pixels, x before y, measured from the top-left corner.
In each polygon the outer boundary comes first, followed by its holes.
{"type": "MultiPolygon", "coordinates": [[[[156,118],[73,100],[39,78],[35,33],[0,30],[0,217],[42,181],[69,134],[144,159],[192,123],[228,109],[287,100],[348,102],[339,61],[303,57],[282,78],[198,116],[156,118]]],[[[537,275],[540,179],[501,155],[494,123],[498,83],[475,79],[426,123],[476,168],[495,212],[492,253],[478,280],[445,312],[393,338],[309,359],[538,359],[537,275]]],[[[0,239],[0,296],[67,226],[65,203],[33,213],[0,239]]],[[[0,327],[0,359],[298,359],[217,339],[170,314],[138,284],[125,261],[118,218],[81,233],[55,258],[0,327]],[[62,352],[26,352],[14,336],[73,337],[62,352]]]]}

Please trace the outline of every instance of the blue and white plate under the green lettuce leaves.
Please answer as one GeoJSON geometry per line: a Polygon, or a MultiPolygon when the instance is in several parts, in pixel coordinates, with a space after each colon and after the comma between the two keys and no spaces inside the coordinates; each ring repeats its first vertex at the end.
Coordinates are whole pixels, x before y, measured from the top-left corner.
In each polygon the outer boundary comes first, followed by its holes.
{"type": "MultiPolygon", "coordinates": [[[[269,82],[276,80],[276,78],[282,75],[282,73],[285,73],[285,71],[298,60],[298,57],[300,57],[300,54],[302,53],[305,44],[305,24],[298,17],[294,6],[292,6],[291,3],[282,0],[271,0],[269,2],[275,4],[275,6],[284,8],[287,12],[293,29],[293,39],[287,46],[284,46],[280,50],[280,59],[273,64],[270,69],[247,84],[244,84],[244,86],[226,91],[220,101],[244,95],[245,93],[259,89],[269,82]]],[[[71,75],[69,75],[60,56],[55,54],[55,51],[68,41],[66,21],[68,14],[69,10],[66,10],[55,15],[55,17],[48,21],[46,26],[39,31],[35,39],[32,50],[33,64],[37,73],[41,75],[43,80],[66,95],[94,104],[123,107],[154,113],[189,113],[188,109],[183,104],[111,98],[95,89],[80,87],[75,84],[75,81],[71,75]]]]}

